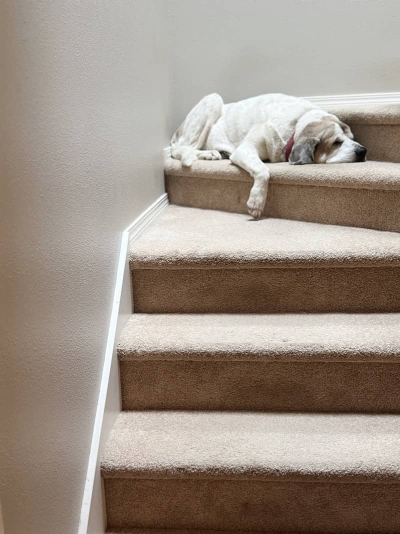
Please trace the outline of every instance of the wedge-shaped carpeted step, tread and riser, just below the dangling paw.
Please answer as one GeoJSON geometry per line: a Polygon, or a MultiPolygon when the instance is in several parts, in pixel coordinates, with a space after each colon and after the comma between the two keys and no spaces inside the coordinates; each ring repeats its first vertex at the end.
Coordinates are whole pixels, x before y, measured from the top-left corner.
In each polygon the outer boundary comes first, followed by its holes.
{"type": "Polygon", "coordinates": [[[400,234],[169,206],[133,243],[139,313],[400,311],[400,234]]]}

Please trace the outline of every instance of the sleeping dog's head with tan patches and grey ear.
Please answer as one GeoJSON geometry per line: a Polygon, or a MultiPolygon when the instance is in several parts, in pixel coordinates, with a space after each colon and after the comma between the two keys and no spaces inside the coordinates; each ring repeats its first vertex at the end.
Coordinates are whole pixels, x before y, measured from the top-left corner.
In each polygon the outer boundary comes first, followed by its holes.
{"type": "Polygon", "coordinates": [[[311,121],[300,120],[298,125],[289,163],[365,161],[366,148],[354,140],[349,126],[335,115],[324,113],[311,121]]]}

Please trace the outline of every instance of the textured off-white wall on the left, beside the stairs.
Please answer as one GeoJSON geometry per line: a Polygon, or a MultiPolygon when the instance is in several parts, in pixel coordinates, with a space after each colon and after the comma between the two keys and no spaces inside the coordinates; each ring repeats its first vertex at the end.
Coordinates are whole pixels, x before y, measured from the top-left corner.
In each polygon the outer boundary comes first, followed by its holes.
{"type": "Polygon", "coordinates": [[[164,191],[167,3],[2,11],[4,527],[73,534],[121,231],[164,191]]]}

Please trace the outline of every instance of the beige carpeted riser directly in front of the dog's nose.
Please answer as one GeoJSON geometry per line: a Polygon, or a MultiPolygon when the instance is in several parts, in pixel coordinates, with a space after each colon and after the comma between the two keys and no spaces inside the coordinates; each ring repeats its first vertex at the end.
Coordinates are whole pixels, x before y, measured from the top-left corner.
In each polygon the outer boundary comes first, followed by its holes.
{"type": "Polygon", "coordinates": [[[364,145],[371,161],[400,162],[400,124],[350,124],[354,138],[364,145]]]}

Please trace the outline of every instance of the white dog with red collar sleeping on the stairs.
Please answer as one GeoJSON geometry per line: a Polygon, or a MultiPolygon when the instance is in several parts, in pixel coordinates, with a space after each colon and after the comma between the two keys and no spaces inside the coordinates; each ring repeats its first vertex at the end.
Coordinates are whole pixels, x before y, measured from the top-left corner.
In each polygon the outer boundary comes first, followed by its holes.
{"type": "Polygon", "coordinates": [[[171,139],[171,156],[190,167],[195,160],[230,159],[254,179],[247,209],[255,219],[267,200],[265,162],[347,163],[365,161],[366,148],[349,126],[308,100],[271,93],[224,104],[207,95],[171,139]]]}

